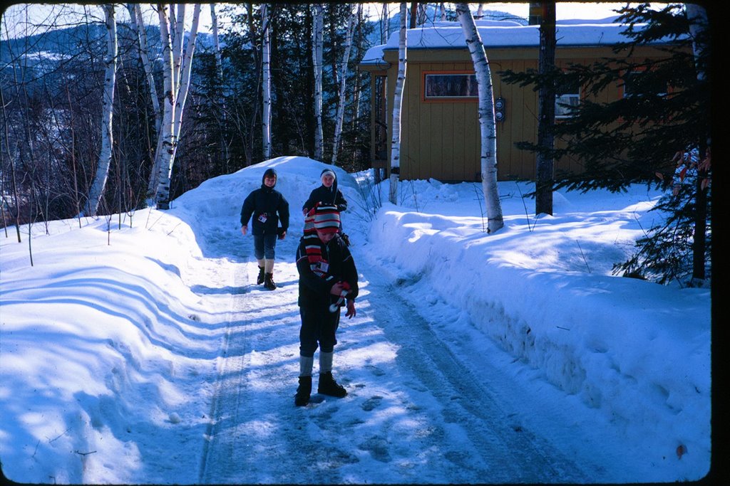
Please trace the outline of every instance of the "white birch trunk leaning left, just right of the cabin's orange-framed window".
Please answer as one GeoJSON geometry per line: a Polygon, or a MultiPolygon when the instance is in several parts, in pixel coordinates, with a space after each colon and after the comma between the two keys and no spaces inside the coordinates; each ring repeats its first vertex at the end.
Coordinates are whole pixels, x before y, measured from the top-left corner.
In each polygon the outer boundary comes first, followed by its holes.
{"type": "Polygon", "coordinates": [[[456,4],[461,30],[464,31],[466,46],[472,55],[474,71],[479,90],[479,128],[481,134],[482,190],[487,208],[487,232],[495,232],[504,226],[502,205],[499,203],[497,189],[497,144],[496,123],[494,121],[494,95],[492,92],[489,61],[477,26],[469,10],[469,4],[456,4]]]}

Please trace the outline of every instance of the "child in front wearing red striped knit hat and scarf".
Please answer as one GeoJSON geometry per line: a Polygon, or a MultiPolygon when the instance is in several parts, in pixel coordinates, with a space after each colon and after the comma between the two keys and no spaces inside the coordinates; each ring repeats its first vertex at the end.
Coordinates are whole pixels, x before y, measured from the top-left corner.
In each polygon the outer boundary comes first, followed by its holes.
{"type": "Polygon", "coordinates": [[[339,211],[334,205],[315,205],[304,219],[304,236],[296,251],[299,271],[299,388],[294,404],[309,403],[314,353],[319,352],[318,393],[342,398],[347,391],[332,377],[335,333],[340,308],[347,318],[356,315],[358,271],[347,245],[337,234],[339,211]],[[346,302],[346,304],[345,304],[346,302]]]}

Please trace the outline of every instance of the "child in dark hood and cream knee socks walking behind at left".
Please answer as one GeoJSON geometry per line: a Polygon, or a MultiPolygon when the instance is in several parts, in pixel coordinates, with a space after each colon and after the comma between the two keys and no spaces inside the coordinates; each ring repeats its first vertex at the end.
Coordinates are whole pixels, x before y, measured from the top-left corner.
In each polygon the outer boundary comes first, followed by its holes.
{"type": "Polygon", "coordinates": [[[277,173],[268,168],[261,178],[261,187],[254,189],[243,201],[241,208],[241,232],[248,232],[248,221],[253,215],[253,254],[258,263],[256,285],[264,283],[269,290],[276,289],[274,282],[274,256],[276,240],[283,240],[289,227],[289,203],[281,192],[274,189],[277,173]],[[281,227],[279,223],[281,222],[281,227]]]}

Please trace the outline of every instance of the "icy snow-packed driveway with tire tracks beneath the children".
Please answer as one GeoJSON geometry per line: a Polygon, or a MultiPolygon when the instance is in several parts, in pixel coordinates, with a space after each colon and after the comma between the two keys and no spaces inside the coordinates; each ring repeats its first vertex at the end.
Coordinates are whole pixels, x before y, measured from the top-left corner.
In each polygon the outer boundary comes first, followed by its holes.
{"type": "Polygon", "coordinates": [[[201,483],[591,482],[600,476],[600,466],[576,464],[555,438],[531,431],[523,407],[510,407],[525,399],[484,359],[496,349],[442,335],[448,326],[439,326],[437,316],[419,315],[400,297],[410,282],[392,283],[361,258],[358,246],[352,248],[361,273],[358,315],[343,316],[334,361],[349,394],[315,395],[315,403],[294,407],[299,308],[291,256],[298,239],[277,246],[275,291],[255,286],[252,241],[241,235],[211,241],[209,253],[218,255],[199,262],[207,270],[192,272],[209,281],[191,288],[215,294],[228,313],[201,483]]]}

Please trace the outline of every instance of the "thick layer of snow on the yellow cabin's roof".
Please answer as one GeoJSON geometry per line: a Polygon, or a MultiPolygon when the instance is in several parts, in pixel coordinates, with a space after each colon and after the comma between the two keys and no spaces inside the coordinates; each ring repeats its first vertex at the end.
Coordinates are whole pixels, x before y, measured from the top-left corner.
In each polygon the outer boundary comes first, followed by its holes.
{"type": "MultiPolygon", "coordinates": [[[[612,23],[615,17],[602,20],[562,20],[556,26],[558,47],[566,46],[610,46],[631,39],[622,34],[629,26],[612,23]]],[[[645,24],[636,24],[634,29],[645,24]]],[[[537,47],[539,45],[539,26],[520,26],[509,20],[480,20],[477,29],[484,47],[537,47]]],[[[434,26],[420,26],[408,29],[408,49],[466,49],[464,33],[458,22],[438,22],[434,26]]],[[[654,44],[672,42],[663,39],[654,44]]],[[[371,47],[361,64],[377,65],[384,63],[385,50],[397,50],[398,31],[393,32],[388,42],[371,47]]]]}

